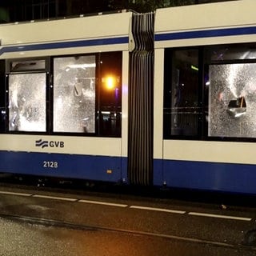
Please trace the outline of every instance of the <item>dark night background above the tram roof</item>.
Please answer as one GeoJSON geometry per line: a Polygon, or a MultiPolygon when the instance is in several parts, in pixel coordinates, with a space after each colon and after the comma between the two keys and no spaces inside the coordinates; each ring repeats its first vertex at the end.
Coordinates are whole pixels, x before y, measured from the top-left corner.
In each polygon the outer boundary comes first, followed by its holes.
{"type": "Polygon", "coordinates": [[[154,11],[168,6],[185,6],[226,0],[0,0],[0,23],[62,18],[123,9],[154,11]]]}

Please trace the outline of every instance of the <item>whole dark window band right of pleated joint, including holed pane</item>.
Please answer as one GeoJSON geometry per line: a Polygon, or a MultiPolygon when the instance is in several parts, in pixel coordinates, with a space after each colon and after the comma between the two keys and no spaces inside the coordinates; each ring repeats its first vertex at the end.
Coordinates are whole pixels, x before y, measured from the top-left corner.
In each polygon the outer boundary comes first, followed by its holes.
{"type": "Polygon", "coordinates": [[[165,50],[164,138],[256,138],[256,44],[165,50]]]}

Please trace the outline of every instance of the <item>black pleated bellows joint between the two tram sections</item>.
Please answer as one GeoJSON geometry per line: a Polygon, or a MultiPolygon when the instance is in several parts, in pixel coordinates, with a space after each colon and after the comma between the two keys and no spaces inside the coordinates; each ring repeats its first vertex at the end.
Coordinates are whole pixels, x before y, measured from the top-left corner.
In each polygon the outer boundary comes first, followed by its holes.
{"type": "Polygon", "coordinates": [[[153,183],[154,14],[134,14],[130,53],[128,178],[153,183]]]}

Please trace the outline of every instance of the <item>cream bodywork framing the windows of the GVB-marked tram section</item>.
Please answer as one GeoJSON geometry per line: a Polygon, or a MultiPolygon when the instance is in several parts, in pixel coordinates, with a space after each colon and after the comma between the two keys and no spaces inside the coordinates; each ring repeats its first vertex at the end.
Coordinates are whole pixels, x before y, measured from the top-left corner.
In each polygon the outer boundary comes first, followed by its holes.
{"type": "Polygon", "coordinates": [[[83,18],[66,18],[56,21],[24,22],[0,26],[0,58],[33,58],[62,54],[87,54],[106,51],[122,51],[122,138],[95,138],[76,136],[47,136],[25,134],[0,134],[0,150],[89,154],[127,157],[128,69],[130,12],[102,14],[83,18]],[[121,38],[121,39],[120,39],[121,38]],[[115,40],[117,39],[117,40],[115,40]],[[119,40],[120,39],[120,40],[119,40]],[[77,47],[63,47],[56,43],[85,42],[77,47]],[[88,44],[86,43],[88,42],[88,44]],[[90,46],[90,42],[97,44],[90,46]],[[100,44],[102,42],[102,45],[100,44]],[[117,42],[117,43],[115,43],[117,42]],[[125,43],[122,43],[125,42],[125,43]],[[26,50],[35,46],[33,50],[26,50]],[[42,50],[40,47],[43,46],[42,50]],[[56,46],[56,47],[55,47],[56,46]],[[51,49],[54,48],[54,49],[51,49]],[[42,148],[36,141],[56,142],[42,148]],[[61,146],[58,142],[64,142],[61,146]]]}

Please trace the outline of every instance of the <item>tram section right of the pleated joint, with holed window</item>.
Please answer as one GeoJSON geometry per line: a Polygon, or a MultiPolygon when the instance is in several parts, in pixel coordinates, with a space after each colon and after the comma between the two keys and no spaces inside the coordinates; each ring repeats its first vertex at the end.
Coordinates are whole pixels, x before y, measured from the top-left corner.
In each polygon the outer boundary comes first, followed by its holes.
{"type": "Polygon", "coordinates": [[[254,7],[234,1],[157,11],[154,86],[163,97],[154,107],[163,126],[154,124],[154,172],[162,171],[162,184],[256,193],[254,7]]]}

